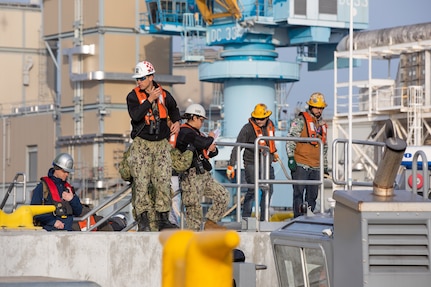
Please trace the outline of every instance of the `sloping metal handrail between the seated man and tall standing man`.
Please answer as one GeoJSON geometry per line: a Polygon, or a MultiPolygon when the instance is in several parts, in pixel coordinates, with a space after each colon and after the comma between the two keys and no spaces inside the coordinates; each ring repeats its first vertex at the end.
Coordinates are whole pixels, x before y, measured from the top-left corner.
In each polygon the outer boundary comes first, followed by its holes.
{"type": "Polygon", "coordinates": [[[97,207],[93,208],[91,211],[87,212],[83,216],[81,216],[81,217],[74,217],[73,221],[76,222],[76,221],[86,220],[87,221],[87,228],[86,228],[85,231],[92,231],[92,230],[96,229],[101,224],[103,224],[104,222],[106,222],[107,220],[109,220],[109,217],[111,217],[112,215],[116,214],[117,212],[119,212],[120,210],[122,210],[124,207],[126,207],[127,205],[129,205],[132,200],[130,199],[130,200],[126,201],[124,204],[120,205],[120,207],[115,208],[108,216],[104,216],[101,220],[99,220],[93,226],[90,226],[90,216],[95,215],[100,210],[102,210],[102,209],[104,209],[104,208],[106,208],[106,207],[108,207],[108,206],[110,206],[110,205],[118,202],[119,200],[121,200],[123,197],[125,197],[127,194],[129,194],[131,192],[131,186],[132,186],[132,184],[129,183],[127,186],[125,186],[122,189],[120,189],[117,192],[115,192],[106,201],[102,202],[97,207]]]}

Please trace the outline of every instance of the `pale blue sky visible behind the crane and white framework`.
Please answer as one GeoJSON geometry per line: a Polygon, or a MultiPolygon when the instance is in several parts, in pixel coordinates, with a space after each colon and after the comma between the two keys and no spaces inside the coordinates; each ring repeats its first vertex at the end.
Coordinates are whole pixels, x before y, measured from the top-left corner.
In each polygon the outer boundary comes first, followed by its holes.
{"type": "MultiPolygon", "coordinates": [[[[430,0],[369,0],[369,27],[367,30],[431,22],[430,11],[430,0]]],[[[281,52],[279,54],[280,60],[294,61],[294,57],[296,57],[296,53],[281,52]]],[[[353,74],[364,72],[364,70],[366,71],[366,67],[355,68],[353,74]]],[[[331,114],[334,93],[333,79],[333,70],[308,72],[307,65],[304,64],[300,81],[288,85],[288,89],[291,89],[287,96],[290,112],[293,112],[299,102],[305,105],[310,94],[320,91],[326,96],[329,104],[326,115],[331,114]]]]}

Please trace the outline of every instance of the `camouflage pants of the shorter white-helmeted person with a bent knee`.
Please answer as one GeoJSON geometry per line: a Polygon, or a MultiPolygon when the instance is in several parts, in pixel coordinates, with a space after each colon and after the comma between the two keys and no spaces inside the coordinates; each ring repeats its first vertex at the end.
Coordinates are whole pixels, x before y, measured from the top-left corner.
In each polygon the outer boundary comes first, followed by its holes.
{"type": "Polygon", "coordinates": [[[229,204],[229,192],[211,176],[211,173],[206,171],[204,174],[196,174],[196,169],[191,168],[182,178],[181,187],[188,229],[195,231],[201,229],[202,196],[212,199],[212,206],[208,210],[206,218],[214,222],[220,221],[229,204]]]}

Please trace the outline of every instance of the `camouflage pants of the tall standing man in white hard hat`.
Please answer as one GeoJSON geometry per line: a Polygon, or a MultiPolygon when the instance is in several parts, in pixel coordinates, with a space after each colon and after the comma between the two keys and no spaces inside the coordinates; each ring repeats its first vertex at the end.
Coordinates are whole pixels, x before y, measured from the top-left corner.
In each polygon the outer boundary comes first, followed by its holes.
{"type": "Polygon", "coordinates": [[[137,215],[144,211],[167,212],[171,209],[171,146],[164,139],[133,140],[128,163],[133,177],[132,205],[137,215]],[[154,188],[154,197],[150,192],[154,188]]]}

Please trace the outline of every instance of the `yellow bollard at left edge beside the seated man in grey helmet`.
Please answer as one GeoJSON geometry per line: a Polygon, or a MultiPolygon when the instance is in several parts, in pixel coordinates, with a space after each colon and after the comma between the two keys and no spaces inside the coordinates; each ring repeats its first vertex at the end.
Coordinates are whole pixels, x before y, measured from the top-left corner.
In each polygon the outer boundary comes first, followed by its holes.
{"type": "Polygon", "coordinates": [[[33,216],[54,210],[54,205],[22,205],[12,213],[0,210],[0,227],[41,229],[42,227],[33,225],[33,216]]]}

